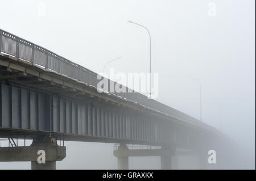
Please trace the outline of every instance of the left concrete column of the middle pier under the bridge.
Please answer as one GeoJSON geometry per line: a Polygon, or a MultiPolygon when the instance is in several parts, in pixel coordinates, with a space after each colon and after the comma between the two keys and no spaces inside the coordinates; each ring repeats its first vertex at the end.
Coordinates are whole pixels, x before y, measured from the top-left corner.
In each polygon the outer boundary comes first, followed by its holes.
{"type": "Polygon", "coordinates": [[[115,157],[117,157],[117,169],[128,170],[129,169],[129,149],[126,145],[119,145],[118,149],[114,151],[115,157]]]}

